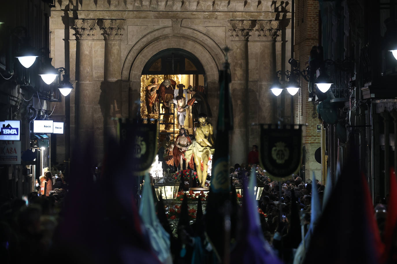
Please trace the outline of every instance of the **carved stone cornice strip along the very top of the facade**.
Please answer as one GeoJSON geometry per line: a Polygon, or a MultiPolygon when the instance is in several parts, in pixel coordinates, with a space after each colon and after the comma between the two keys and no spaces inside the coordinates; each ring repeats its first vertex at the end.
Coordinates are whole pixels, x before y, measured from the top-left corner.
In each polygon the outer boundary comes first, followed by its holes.
{"type": "Polygon", "coordinates": [[[52,10],[286,12],[289,11],[290,5],[285,2],[273,0],[60,0],[55,1],[55,8],[52,10]]]}

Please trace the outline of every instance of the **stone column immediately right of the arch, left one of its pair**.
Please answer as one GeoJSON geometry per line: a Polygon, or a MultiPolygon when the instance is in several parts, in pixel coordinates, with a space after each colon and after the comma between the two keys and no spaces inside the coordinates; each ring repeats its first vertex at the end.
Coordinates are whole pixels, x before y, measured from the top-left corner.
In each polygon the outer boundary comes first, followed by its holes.
{"type": "Polygon", "coordinates": [[[231,100],[234,127],[231,132],[231,164],[247,163],[249,142],[248,38],[255,27],[252,20],[228,21],[231,39],[231,100]]]}

